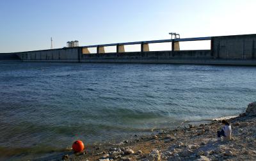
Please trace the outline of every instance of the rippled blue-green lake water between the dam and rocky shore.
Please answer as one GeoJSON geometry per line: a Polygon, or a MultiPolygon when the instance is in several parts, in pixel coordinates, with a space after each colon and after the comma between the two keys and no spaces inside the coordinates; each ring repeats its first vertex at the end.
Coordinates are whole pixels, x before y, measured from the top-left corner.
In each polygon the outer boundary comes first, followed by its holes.
{"type": "Polygon", "coordinates": [[[246,66],[2,62],[0,159],[236,115],[255,80],[246,66]]]}

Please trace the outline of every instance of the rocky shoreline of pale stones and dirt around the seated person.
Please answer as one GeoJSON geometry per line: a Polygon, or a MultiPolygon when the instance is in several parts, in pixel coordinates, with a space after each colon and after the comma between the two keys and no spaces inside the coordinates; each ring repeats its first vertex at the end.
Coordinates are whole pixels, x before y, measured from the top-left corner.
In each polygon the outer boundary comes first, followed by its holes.
{"type": "MultiPolygon", "coordinates": [[[[110,147],[90,147],[87,153],[63,155],[60,160],[256,160],[256,102],[246,113],[228,121],[232,140],[217,138],[221,120],[198,126],[185,126],[148,136],[134,136],[110,147]]],[[[56,158],[54,159],[56,160],[56,158]]]]}

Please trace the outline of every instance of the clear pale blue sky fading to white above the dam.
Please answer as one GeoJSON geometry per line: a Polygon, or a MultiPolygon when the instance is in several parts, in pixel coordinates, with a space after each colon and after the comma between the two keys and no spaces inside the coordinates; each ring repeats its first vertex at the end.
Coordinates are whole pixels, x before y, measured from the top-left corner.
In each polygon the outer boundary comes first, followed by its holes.
{"type": "MultiPolygon", "coordinates": [[[[170,32],[255,34],[255,7],[255,0],[0,0],[0,52],[50,49],[51,37],[61,48],[72,40],[84,46],[168,39],[170,32]]],[[[204,49],[209,42],[180,45],[204,49]]]]}

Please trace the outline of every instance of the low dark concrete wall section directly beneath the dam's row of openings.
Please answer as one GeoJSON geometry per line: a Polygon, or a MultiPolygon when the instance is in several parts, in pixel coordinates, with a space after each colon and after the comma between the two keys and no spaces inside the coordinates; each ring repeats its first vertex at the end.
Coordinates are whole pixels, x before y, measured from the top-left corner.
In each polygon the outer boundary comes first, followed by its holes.
{"type": "Polygon", "coordinates": [[[82,54],[84,63],[173,63],[211,59],[211,50],[147,51],[108,54],[82,54]]]}

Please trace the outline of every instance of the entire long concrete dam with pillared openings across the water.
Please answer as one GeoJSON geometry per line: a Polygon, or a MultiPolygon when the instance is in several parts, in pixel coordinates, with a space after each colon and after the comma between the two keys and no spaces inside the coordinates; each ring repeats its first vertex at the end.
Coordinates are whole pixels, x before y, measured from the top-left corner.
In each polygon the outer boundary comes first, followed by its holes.
{"type": "Polygon", "coordinates": [[[201,65],[256,65],[256,34],[176,38],[144,42],[111,43],[62,49],[36,50],[0,54],[19,61],[77,62],[77,63],[172,63],[201,65]],[[180,42],[211,42],[210,50],[180,50],[180,42]],[[150,51],[150,43],[172,43],[172,50],[150,51]],[[125,45],[140,45],[139,52],[125,52],[125,45]],[[116,47],[116,52],[106,53],[105,47],[116,47]],[[91,48],[97,52],[90,53],[91,48]]]}

